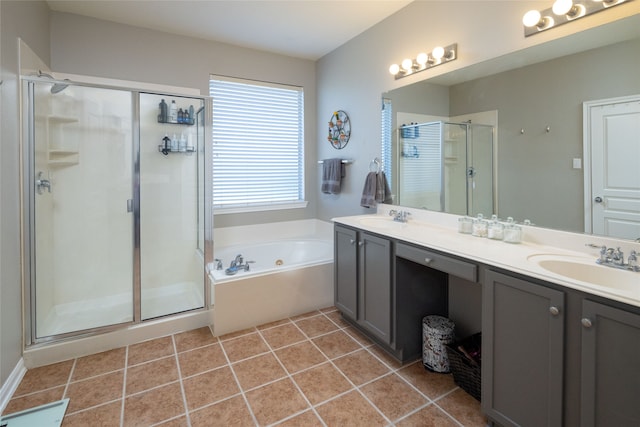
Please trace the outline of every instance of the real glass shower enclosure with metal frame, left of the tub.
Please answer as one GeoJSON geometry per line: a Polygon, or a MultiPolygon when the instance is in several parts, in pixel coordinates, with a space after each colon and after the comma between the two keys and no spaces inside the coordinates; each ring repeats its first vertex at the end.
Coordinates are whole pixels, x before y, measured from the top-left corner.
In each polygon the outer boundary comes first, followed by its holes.
{"type": "Polygon", "coordinates": [[[27,344],[207,307],[207,98],[42,76],[22,92],[27,344]]]}

